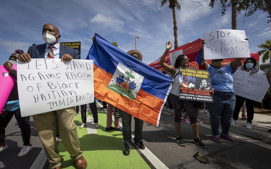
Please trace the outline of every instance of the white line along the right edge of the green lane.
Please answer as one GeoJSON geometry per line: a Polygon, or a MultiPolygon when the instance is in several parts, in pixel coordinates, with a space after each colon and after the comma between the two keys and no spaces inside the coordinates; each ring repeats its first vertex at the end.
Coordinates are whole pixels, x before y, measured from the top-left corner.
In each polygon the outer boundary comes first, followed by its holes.
{"type": "MultiPolygon", "coordinates": [[[[98,103],[100,107],[102,107],[102,104],[98,103]]],[[[105,111],[105,110],[104,110],[105,111]]],[[[105,111],[107,112],[107,111],[105,111]]],[[[114,122],[114,116],[112,115],[112,121],[114,122]]],[[[120,123],[120,126],[122,127],[122,123],[120,123]]],[[[135,136],[132,134],[132,138],[134,138],[135,136]]],[[[134,143],[134,141],[132,140],[132,142],[134,143]]],[[[134,145],[136,145],[134,143],[134,145]]],[[[139,151],[142,152],[142,154],[144,154],[144,156],[149,160],[149,162],[152,163],[152,165],[157,168],[157,169],[169,169],[166,167],[166,165],[160,161],[160,159],[158,159],[145,145],[145,149],[141,150],[137,145],[136,147],[138,148],[139,151]]]]}

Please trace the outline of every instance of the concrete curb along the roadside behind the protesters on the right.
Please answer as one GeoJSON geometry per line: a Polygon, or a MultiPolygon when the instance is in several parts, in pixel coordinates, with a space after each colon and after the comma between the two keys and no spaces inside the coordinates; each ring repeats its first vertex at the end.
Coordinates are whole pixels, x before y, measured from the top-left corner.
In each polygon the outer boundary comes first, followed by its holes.
{"type": "MultiPolygon", "coordinates": [[[[165,114],[172,114],[174,116],[174,111],[173,109],[167,109],[165,107],[163,107],[162,112],[166,112],[165,114]]],[[[202,121],[205,124],[210,125],[210,118],[209,118],[209,114],[206,114],[208,117],[204,117],[201,114],[203,114],[203,109],[200,109],[199,115],[198,115],[198,119],[200,119],[200,121],[202,121]]],[[[184,116],[184,113],[182,113],[182,117],[184,116]]],[[[257,140],[257,141],[262,141],[264,143],[267,143],[269,145],[271,145],[271,133],[270,132],[265,132],[265,131],[261,131],[261,130],[256,130],[256,129],[246,129],[243,126],[239,126],[239,125],[234,125],[234,128],[231,127],[230,132],[232,133],[236,133],[248,138],[251,138],[253,140],[257,140]]],[[[221,126],[219,125],[219,128],[221,128],[221,126]]],[[[211,131],[210,131],[211,134],[211,131]]]]}

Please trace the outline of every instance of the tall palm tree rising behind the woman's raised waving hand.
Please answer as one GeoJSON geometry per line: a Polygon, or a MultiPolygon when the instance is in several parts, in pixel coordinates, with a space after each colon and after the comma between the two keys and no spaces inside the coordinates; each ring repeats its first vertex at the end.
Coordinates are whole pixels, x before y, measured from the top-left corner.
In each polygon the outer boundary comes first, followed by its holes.
{"type": "Polygon", "coordinates": [[[174,31],[174,49],[178,48],[178,34],[177,34],[177,20],[176,20],[176,10],[181,10],[181,6],[177,0],[163,0],[160,3],[160,7],[163,7],[167,2],[169,2],[169,8],[172,9],[173,14],[173,31],[174,31]]]}

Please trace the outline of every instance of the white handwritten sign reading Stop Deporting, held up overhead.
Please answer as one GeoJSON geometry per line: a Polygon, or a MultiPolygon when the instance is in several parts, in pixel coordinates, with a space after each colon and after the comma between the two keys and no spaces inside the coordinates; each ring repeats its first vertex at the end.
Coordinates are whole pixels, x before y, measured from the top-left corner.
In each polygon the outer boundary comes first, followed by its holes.
{"type": "Polygon", "coordinates": [[[245,31],[219,29],[204,32],[204,59],[250,57],[245,31]]]}

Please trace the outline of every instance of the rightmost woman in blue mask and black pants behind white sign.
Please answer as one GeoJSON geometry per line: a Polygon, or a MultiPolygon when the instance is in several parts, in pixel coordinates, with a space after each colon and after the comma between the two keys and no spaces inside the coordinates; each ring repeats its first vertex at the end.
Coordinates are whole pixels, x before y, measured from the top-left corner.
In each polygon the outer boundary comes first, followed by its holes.
{"type": "MultiPolygon", "coordinates": [[[[252,74],[252,73],[264,74],[264,71],[261,71],[261,70],[255,68],[256,65],[257,65],[256,59],[254,59],[253,57],[250,57],[250,58],[247,58],[244,61],[244,65],[240,70],[250,72],[250,74],[252,74]]],[[[253,120],[253,116],[254,116],[254,104],[255,104],[255,101],[250,100],[248,98],[244,98],[242,96],[238,96],[238,95],[236,95],[235,97],[236,97],[235,108],[234,108],[234,111],[233,111],[233,119],[231,120],[231,125],[230,126],[233,126],[235,123],[238,122],[240,109],[243,106],[244,101],[246,101],[246,108],[247,108],[247,125],[246,125],[246,128],[247,129],[252,129],[252,120],[253,120]]]]}

